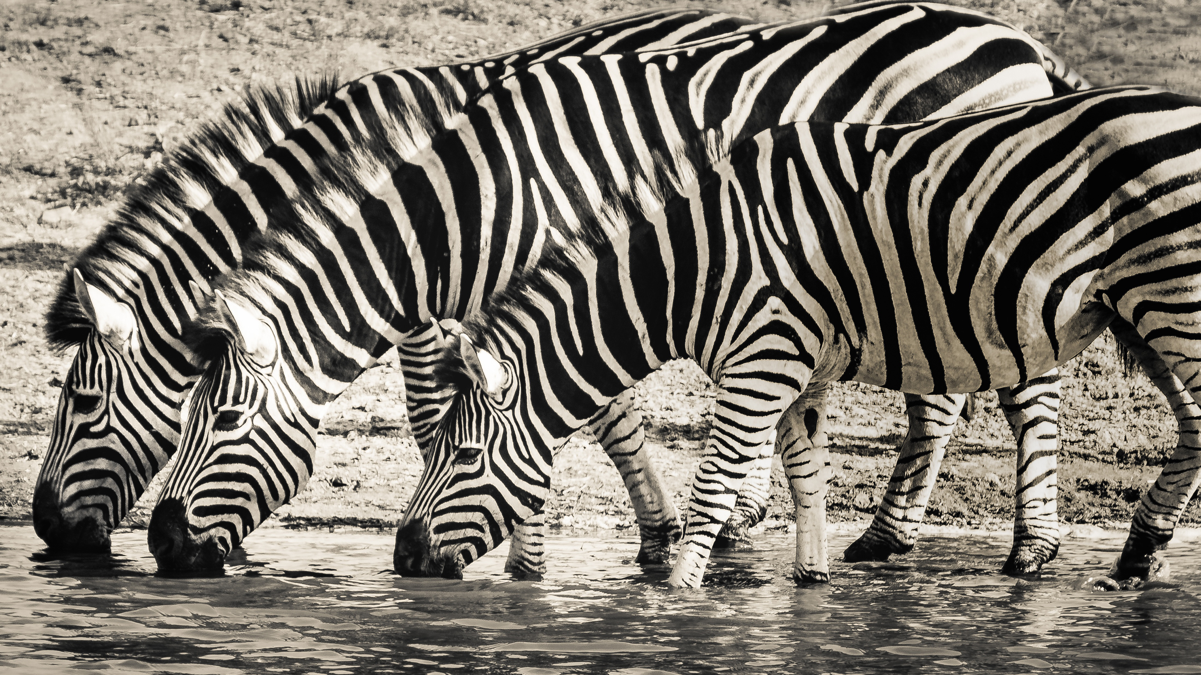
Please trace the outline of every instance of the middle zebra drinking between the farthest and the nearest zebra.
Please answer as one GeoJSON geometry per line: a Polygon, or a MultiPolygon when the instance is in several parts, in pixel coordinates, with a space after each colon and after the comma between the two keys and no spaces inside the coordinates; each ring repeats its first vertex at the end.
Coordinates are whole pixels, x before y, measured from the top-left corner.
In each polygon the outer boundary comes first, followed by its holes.
{"type": "Polygon", "coordinates": [[[721,151],[781,115],[918,119],[1038,98],[1052,92],[1046,70],[1044,48],[981,14],[873,5],[667,50],[548,59],[503,78],[408,162],[370,144],[331,157],[322,190],[277,209],[312,231],[258,239],[190,331],[209,365],[150,522],[160,567],[221,565],[303,486],[324,406],[370,359],[430,317],[471,315],[557,246],[576,209],[602,211],[623,166],[679,168],[679,135],[721,151]],[[890,52],[894,40],[903,48],[890,52]],[[981,54],[992,60],[973,60],[981,54]],[[725,65],[745,77],[718,77],[725,65]],[[384,226],[368,237],[369,222],[384,226]],[[264,354],[275,360],[256,362],[251,344],[274,345],[264,354]]]}

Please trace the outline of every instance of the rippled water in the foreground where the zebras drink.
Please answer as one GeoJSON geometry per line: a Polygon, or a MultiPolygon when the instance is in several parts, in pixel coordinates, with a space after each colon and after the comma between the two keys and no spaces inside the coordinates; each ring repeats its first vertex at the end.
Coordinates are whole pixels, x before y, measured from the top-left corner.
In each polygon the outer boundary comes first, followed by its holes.
{"type": "Polygon", "coordinates": [[[1006,537],[932,537],[797,589],[791,537],[769,536],[691,591],[632,565],[628,538],[551,537],[540,583],[510,580],[503,550],[462,581],[401,579],[392,544],[265,528],[225,575],[171,579],[144,531],[53,557],[0,526],[0,674],[1201,673],[1199,543],[1169,549],[1172,584],[1111,593],[1081,589],[1121,539],[1068,540],[1020,581],[996,572],[1006,537]]]}

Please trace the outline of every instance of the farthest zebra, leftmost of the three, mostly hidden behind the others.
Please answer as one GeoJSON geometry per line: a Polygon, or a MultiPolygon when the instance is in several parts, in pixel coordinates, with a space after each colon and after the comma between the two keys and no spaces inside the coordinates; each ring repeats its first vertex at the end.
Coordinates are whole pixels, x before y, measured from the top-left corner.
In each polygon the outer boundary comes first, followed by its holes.
{"type": "MultiPolygon", "coordinates": [[[[382,77],[410,97],[402,109],[376,117],[429,135],[489,82],[525,62],[674,44],[751,23],[709,10],[651,10],[510,54],[400,68],[382,77]]],[[[46,334],[59,350],[78,351],[34,496],[35,530],[50,548],[107,550],[109,531],[167,462],[179,440],[181,401],[199,375],[181,339],[184,325],[209,280],[237,268],[246,239],[267,227],[264,204],[307,189],[309,157],[339,153],[366,131],[375,86],[365,79],[348,86],[331,77],[298,80],[227,106],[219,121],[147,177],[68,270],[46,334]]],[[[429,333],[401,345],[402,363],[423,358],[410,354],[429,333]]],[[[429,382],[419,377],[420,364],[405,372],[414,432],[426,444],[429,382]]],[[[628,461],[638,468],[639,459],[633,453],[628,461]]]]}

